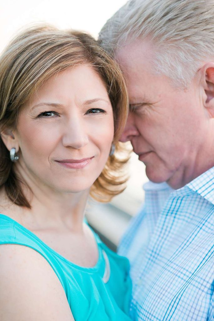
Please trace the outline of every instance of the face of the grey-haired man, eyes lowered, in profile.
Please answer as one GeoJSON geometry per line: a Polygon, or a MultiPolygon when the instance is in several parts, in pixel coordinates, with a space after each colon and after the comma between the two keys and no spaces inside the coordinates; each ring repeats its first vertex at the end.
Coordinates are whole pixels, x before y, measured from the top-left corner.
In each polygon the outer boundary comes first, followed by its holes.
{"type": "Polygon", "coordinates": [[[130,114],[121,141],[130,140],[153,182],[180,188],[197,176],[209,117],[199,80],[188,90],[155,75],[152,46],[135,41],[117,52],[127,80],[130,114]]]}

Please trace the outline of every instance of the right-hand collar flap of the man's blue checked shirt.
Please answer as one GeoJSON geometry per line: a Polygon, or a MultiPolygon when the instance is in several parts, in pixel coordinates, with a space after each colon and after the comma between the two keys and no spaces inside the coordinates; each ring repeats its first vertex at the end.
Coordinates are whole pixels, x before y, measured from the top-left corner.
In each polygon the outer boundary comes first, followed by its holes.
{"type": "Polygon", "coordinates": [[[186,186],[214,204],[214,167],[193,179],[186,186]]]}

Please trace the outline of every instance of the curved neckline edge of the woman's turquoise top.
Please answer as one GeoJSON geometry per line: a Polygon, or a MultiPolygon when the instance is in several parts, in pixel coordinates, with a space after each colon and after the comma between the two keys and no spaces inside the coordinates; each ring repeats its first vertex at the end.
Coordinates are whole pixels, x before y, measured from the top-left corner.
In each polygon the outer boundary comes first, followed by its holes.
{"type": "MultiPolygon", "coordinates": [[[[106,260],[103,256],[102,250],[100,248],[100,240],[98,238],[98,236],[95,234],[95,232],[90,228],[90,230],[92,231],[95,241],[97,243],[97,247],[98,247],[98,260],[97,263],[94,266],[91,267],[87,267],[87,266],[81,266],[81,265],[77,265],[71,261],[69,261],[68,259],[66,259],[64,256],[62,256],[61,254],[59,254],[58,252],[56,252],[53,248],[49,247],[45,242],[43,242],[41,239],[39,239],[39,237],[34,234],[33,232],[31,232],[30,230],[26,229],[23,225],[21,225],[20,223],[18,223],[17,221],[13,220],[11,217],[4,215],[2,213],[0,213],[0,218],[4,218],[7,221],[11,221],[13,224],[17,225],[21,230],[23,230],[25,233],[29,234],[31,237],[33,237],[34,239],[36,239],[40,244],[42,244],[43,246],[45,246],[50,252],[52,252],[53,254],[55,254],[56,256],[58,256],[60,259],[62,259],[64,262],[66,262],[69,265],[72,265],[75,269],[78,270],[82,270],[82,271],[86,271],[86,272],[97,272],[100,268],[100,265],[102,264],[102,261],[104,261],[106,263],[106,260]]],[[[18,244],[18,243],[17,243],[18,244]]],[[[105,253],[105,251],[104,251],[105,253]]]]}

